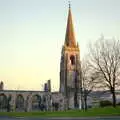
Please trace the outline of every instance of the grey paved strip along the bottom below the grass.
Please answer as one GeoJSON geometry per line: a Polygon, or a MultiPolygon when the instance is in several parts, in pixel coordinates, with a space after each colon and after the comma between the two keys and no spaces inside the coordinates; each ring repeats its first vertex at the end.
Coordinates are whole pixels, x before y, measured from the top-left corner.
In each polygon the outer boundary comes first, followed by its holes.
{"type": "Polygon", "coordinates": [[[29,117],[1,117],[0,120],[120,120],[116,117],[80,117],[80,118],[29,118],[29,117]]]}

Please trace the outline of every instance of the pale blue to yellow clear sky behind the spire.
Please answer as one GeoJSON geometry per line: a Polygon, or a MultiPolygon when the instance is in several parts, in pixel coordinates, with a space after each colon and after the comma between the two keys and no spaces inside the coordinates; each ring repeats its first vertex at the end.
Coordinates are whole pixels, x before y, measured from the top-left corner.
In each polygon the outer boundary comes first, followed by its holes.
{"type": "MultiPolygon", "coordinates": [[[[120,0],[72,0],[81,59],[89,41],[120,38],[120,0]]],[[[0,80],[5,89],[59,89],[67,0],[0,0],[0,80]]]]}

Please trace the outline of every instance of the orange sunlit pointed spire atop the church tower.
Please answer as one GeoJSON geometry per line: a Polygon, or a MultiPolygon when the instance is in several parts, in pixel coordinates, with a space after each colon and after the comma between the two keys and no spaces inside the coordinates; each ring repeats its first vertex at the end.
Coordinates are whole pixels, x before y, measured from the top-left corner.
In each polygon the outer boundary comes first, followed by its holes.
{"type": "Polygon", "coordinates": [[[76,40],[74,35],[74,27],[72,22],[71,4],[69,2],[69,12],[65,36],[65,45],[69,47],[76,47],[76,40]]]}

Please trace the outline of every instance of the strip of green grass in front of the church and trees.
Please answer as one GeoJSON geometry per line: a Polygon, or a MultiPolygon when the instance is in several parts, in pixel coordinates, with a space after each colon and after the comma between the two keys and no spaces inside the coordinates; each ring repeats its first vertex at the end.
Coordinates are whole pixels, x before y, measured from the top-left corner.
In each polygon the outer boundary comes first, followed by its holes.
{"type": "Polygon", "coordinates": [[[88,117],[88,116],[120,116],[120,107],[92,108],[88,111],[69,110],[58,112],[0,112],[0,116],[14,117],[88,117]]]}

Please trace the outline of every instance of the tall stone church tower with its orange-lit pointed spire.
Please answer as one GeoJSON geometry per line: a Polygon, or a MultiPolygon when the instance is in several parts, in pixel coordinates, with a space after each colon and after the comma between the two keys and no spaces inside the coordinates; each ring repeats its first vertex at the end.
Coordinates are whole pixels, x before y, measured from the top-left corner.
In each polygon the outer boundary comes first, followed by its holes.
{"type": "Polygon", "coordinates": [[[66,98],[67,108],[73,109],[79,106],[80,88],[80,50],[75,39],[69,4],[65,42],[60,62],[60,92],[66,98]]]}

